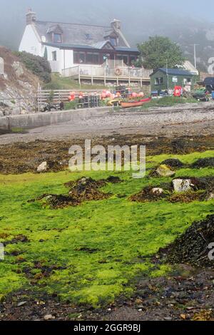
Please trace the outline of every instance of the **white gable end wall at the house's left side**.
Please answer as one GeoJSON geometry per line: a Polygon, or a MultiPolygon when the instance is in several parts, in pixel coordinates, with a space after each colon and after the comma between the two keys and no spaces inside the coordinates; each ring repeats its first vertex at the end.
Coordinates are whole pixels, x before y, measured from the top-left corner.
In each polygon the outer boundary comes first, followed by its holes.
{"type": "Polygon", "coordinates": [[[39,36],[37,36],[34,26],[29,24],[26,26],[24,35],[21,39],[19,51],[33,53],[36,56],[44,56],[44,54],[41,53],[41,49],[41,41],[39,41],[39,36]]]}

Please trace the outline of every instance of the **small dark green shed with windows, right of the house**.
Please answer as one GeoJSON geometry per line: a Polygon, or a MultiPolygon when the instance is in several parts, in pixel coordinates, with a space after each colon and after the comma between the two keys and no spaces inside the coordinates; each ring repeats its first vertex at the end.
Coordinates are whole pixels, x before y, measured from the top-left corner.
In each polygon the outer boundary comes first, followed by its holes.
{"type": "Polygon", "coordinates": [[[173,90],[175,86],[191,91],[194,88],[194,77],[193,73],[178,68],[157,68],[151,74],[151,91],[173,90]]]}

